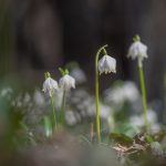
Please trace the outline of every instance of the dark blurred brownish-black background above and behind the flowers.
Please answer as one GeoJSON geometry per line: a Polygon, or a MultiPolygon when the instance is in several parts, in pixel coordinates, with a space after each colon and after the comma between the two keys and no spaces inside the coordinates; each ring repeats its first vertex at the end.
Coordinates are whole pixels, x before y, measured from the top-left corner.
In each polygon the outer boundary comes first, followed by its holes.
{"type": "MultiPolygon", "coordinates": [[[[164,98],[166,64],[165,0],[1,0],[0,75],[40,86],[43,72],[77,61],[93,90],[94,56],[107,43],[117,74],[102,76],[138,82],[136,62],[126,59],[135,34],[148,45],[144,61],[148,100],[164,98]]],[[[56,77],[56,76],[55,76],[56,77]]]]}

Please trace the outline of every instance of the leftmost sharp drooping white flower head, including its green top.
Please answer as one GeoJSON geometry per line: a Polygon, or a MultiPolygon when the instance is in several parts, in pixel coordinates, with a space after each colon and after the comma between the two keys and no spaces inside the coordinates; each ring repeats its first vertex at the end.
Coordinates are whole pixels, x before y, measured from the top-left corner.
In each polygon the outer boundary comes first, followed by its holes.
{"type": "Polygon", "coordinates": [[[55,90],[59,89],[58,82],[51,77],[51,74],[49,72],[46,72],[44,75],[45,81],[43,83],[43,92],[52,96],[55,90]]]}

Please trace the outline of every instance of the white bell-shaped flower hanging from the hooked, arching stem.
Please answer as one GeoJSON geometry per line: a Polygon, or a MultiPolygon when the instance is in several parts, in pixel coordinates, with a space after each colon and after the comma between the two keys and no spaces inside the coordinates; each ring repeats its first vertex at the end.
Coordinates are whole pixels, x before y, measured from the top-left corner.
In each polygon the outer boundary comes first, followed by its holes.
{"type": "Polygon", "coordinates": [[[100,61],[98,61],[98,71],[100,74],[102,73],[116,73],[116,60],[111,58],[110,55],[104,55],[100,61]]]}

